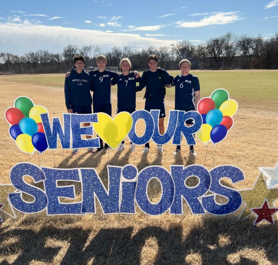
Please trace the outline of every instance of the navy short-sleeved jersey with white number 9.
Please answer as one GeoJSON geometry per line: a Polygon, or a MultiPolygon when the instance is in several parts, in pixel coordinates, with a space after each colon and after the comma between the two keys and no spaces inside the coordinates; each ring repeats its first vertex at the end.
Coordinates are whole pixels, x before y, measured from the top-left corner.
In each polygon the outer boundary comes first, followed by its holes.
{"type": "Polygon", "coordinates": [[[94,84],[93,103],[111,104],[111,79],[117,76],[117,73],[104,70],[91,71],[90,76],[94,84]]]}

